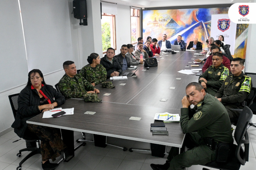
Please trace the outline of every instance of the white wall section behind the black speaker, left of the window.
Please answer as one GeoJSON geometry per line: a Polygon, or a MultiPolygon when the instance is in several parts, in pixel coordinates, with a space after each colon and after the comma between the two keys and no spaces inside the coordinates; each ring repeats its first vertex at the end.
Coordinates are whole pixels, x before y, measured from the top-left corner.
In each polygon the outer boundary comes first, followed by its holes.
{"type": "Polygon", "coordinates": [[[87,57],[96,52],[102,54],[101,38],[101,8],[100,0],[87,0],[87,23],[79,25],[80,20],[74,18],[73,0],[69,0],[71,17],[71,34],[73,54],[78,56],[78,61],[74,61],[77,69],[81,69],[88,64],[87,57]]]}

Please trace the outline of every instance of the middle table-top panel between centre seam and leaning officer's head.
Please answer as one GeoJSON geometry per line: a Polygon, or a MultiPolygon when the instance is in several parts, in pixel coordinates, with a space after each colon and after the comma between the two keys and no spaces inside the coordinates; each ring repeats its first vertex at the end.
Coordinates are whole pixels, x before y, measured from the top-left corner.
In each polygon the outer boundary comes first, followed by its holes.
{"type": "Polygon", "coordinates": [[[191,82],[198,82],[198,78],[199,76],[195,75],[160,74],[128,104],[173,108],[180,111],[181,99],[186,95],[186,86],[191,82]],[[181,80],[176,80],[176,78],[181,78],[181,80]],[[175,89],[169,89],[170,87],[175,87],[175,89]],[[161,102],[162,98],[167,98],[167,101],[161,102]]]}

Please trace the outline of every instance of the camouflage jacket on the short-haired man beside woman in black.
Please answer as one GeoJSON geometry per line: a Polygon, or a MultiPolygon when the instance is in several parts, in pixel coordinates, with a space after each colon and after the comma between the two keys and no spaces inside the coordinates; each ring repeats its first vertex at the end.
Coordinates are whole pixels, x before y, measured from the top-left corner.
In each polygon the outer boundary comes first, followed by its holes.
{"type": "Polygon", "coordinates": [[[65,98],[69,99],[80,98],[86,94],[87,91],[93,91],[95,87],[93,87],[90,82],[87,82],[80,74],[76,74],[74,78],[65,74],[59,81],[59,88],[65,98]]]}

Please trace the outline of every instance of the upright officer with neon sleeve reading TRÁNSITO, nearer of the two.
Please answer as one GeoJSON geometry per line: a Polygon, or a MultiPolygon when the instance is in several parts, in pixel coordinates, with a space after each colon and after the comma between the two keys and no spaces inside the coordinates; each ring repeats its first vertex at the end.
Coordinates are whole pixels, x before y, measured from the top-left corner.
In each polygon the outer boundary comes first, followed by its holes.
{"type": "Polygon", "coordinates": [[[242,102],[246,99],[252,88],[252,80],[244,75],[243,69],[244,60],[234,58],[230,64],[232,74],[227,76],[221,88],[215,94],[215,97],[226,107],[230,119],[238,118],[239,112],[230,109],[243,108],[242,102]]]}

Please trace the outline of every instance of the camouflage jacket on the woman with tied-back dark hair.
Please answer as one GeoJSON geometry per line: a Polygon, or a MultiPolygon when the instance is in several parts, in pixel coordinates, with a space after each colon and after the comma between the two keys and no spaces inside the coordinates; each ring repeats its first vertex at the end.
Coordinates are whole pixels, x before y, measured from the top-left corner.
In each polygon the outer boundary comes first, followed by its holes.
{"type": "Polygon", "coordinates": [[[80,73],[88,82],[95,83],[95,85],[105,82],[107,79],[107,71],[101,64],[96,66],[95,71],[91,68],[90,64],[84,66],[80,73]]]}

